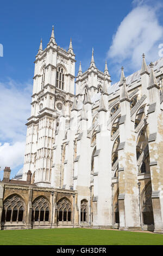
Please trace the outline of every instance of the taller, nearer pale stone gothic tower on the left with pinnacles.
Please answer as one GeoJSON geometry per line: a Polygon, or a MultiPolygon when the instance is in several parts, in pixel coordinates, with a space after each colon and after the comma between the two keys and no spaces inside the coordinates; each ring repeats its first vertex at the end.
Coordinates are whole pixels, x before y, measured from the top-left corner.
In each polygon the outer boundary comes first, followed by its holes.
{"type": "Polygon", "coordinates": [[[75,54],[57,45],[54,27],[45,50],[35,59],[31,114],[28,118],[23,180],[28,170],[37,186],[50,186],[55,130],[61,111],[70,114],[74,97],[75,54]]]}

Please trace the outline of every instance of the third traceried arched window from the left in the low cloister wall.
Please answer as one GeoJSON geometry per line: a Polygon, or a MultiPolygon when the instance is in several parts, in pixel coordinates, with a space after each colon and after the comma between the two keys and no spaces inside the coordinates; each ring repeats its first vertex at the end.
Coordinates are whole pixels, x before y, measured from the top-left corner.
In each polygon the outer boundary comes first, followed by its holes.
{"type": "Polygon", "coordinates": [[[72,221],[72,205],[67,198],[61,198],[57,203],[58,221],[72,221]]]}

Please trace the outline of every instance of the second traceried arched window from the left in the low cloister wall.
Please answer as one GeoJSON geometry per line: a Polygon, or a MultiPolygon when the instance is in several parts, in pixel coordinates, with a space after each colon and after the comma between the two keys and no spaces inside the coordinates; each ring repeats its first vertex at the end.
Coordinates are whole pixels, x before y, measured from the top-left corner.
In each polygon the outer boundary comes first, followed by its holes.
{"type": "Polygon", "coordinates": [[[45,197],[37,197],[32,204],[32,222],[49,221],[49,202],[45,197]]]}

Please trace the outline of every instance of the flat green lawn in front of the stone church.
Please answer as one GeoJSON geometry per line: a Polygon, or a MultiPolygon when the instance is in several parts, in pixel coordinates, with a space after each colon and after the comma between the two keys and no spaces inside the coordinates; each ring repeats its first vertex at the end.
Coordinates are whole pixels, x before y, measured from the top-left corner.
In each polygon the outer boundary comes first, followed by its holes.
{"type": "Polygon", "coordinates": [[[83,228],[0,230],[0,245],[163,245],[163,235],[83,228]]]}

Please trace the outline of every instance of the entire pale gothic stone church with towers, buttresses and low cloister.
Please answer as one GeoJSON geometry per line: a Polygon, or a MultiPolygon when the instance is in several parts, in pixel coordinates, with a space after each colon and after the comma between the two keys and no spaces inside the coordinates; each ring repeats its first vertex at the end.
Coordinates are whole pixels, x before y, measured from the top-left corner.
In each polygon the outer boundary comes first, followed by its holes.
{"type": "Polygon", "coordinates": [[[163,58],[111,85],[52,35],[35,60],[23,173],[0,183],[2,229],[92,227],[163,233],[163,58]]]}

